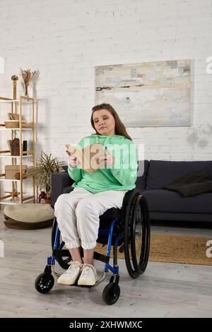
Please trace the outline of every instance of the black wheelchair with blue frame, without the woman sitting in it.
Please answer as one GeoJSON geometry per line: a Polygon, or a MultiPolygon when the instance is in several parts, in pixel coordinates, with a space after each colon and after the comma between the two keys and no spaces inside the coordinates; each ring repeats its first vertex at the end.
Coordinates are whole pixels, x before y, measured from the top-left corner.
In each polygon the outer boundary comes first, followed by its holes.
{"type": "MultiPolygon", "coordinates": [[[[131,278],[138,278],[145,270],[148,263],[150,250],[150,218],[146,198],[139,194],[136,189],[127,191],[124,195],[122,208],[110,208],[100,215],[100,227],[97,242],[107,244],[107,254],[94,253],[94,259],[105,263],[103,275],[93,286],[71,287],[97,287],[107,278],[108,271],[113,275],[110,282],[102,292],[102,299],[106,304],[114,304],[119,299],[119,266],[117,263],[118,247],[119,252],[124,252],[126,269],[131,278]],[[110,265],[110,249],[113,246],[113,266],[110,265]]],[[[83,254],[83,249],[82,249],[83,254]]],[[[61,241],[57,219],[54,218],[52,226],[52,256],[47,258],[45,271],[37,276],[35,289],[45,294],[54,286],[54,277],[59,278],[60,274],[54,270],[55,262],[61,268],[69,268],[71,255],[65,249],[61,241]],[[54,276],[53,276],[54,275],[54,276]]]]}

